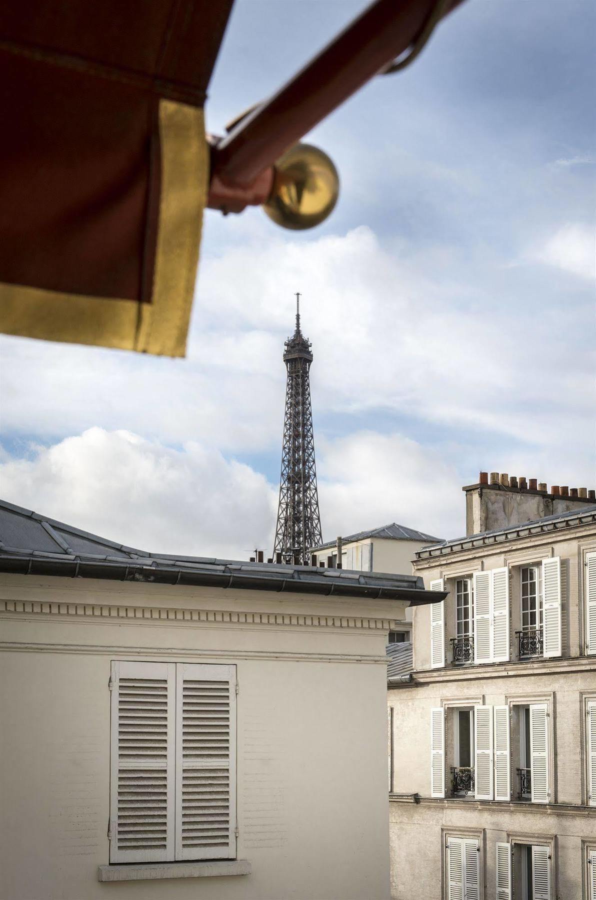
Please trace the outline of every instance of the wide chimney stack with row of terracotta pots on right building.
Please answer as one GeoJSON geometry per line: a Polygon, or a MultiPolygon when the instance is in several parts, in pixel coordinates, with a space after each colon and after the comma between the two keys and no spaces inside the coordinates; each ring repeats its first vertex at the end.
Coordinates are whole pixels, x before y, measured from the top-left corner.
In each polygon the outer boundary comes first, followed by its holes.
{"type": "MultiPolygon", "coordinates": [[[[484,531],[524,525],[557,513],[578,511],[596,500],[593,490],[553,484],[548,491],[546,482],[525,475],[506,472],[481,472],[477,484],[465,491],[465,533],[479,535],[484,531]]],[[[340,557],[339,557],[340,559],[340,557]]]]}

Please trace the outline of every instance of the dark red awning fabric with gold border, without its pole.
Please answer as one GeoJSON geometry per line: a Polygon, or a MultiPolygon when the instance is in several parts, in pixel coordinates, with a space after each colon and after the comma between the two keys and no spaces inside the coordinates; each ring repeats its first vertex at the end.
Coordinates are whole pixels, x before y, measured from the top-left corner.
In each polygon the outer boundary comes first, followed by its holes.
{"type": "Polygon", "coordinates": [[[232,0],[0,12],[0,329],[184,356],[232,0]]]}

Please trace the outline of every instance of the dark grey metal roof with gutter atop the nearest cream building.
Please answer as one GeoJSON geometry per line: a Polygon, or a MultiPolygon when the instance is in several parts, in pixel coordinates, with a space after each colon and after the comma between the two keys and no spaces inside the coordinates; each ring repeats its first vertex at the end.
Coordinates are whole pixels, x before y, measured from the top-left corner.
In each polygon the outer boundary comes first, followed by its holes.
{"type": "Polygon", "coordinates": [[[0,572],[436,602],[420,576],[152,554],[0,500],[0,572]]]}

